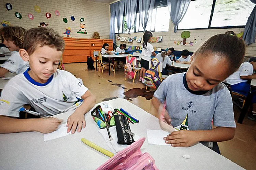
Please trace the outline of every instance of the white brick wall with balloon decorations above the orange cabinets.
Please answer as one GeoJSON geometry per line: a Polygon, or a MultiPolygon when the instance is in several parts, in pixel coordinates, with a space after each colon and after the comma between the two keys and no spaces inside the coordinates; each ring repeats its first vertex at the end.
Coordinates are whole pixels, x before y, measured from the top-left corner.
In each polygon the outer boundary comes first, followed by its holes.
{"type": "MultiPolygon", "coordinates": [[[[110,9],[109,4],[89,2],[87,0],[0,0],[0,22],[9,21],[13,26],[21,26],[25,29],[39,26],[39,22],[49,24],[49,27],[64,35],[66,28],[71,28],[70,37],[91,38],[95,31],[100,33],[101,39],[109,39],[110,9]],[[13,9],[8,11],[6,3],[11,3],[13,9]],[[34,6],[41,7],[41,13],[34,10],[34,6]],[[54,11],[58,10],[60,16],[56,16],[54,11]],[[16,18],[15,12],[22,14],[22,19],[16,18]],[[47,19],[45,13],[51,13],[51,18],[47,19]],[[34,15],[34,20],[28,18],[28,14],[34,15]],[[70,16],[75,17],[75,21],[70,16]],[[63,22],[63,18],[68,19],[68,23],[63,22]],[[80,18],[84,18],[85,30],[88,34],[76,33],[80,28],[80,18]]],[[[0,25],[2,27],[2,25],[0,25]]]]}

